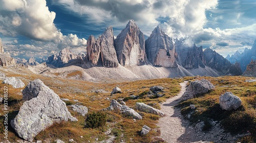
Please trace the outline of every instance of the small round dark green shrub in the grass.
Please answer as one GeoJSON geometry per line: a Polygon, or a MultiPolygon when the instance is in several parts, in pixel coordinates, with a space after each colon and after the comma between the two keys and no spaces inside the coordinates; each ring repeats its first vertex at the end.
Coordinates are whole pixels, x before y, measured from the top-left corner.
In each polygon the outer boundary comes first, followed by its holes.
{"type": "Polygon", "coordinates": [[[106,113],[93,112],[87,115],[86,126],[89,128],[98,128],[106,124],[106,113]]]}

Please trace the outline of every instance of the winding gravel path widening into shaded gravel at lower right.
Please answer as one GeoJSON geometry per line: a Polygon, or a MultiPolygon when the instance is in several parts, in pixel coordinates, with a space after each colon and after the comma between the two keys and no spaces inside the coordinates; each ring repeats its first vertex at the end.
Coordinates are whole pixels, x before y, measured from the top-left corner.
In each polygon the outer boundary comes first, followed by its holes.
{"type": "Polygon", "coordinates": [[[161,104],[161,111],[164,116],[160,118],[157,124],[160,127],[161,135],[159,138],[164,139],[165,142],[236,142],[236,140],[243,135],[232,136],[226,133],[219,122],[214,123],[214,127],[208,132],[198,131],[195,125],[191,125],[188,120],[185,120],[180,113],[179,108],[174,108],[179,104],[182,94],[186,90],[188,81],[180,83],[181,91],[174,97],[168,99],[161,104]]]}

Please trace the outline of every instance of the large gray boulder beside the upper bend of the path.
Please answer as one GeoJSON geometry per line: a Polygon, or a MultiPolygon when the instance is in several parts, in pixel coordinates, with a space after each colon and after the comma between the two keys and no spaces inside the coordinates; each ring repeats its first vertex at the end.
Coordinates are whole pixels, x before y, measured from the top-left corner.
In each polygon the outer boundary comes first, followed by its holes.
{"type": "Polygon", "coordinates": [[[188,85],[185,93],[182,95],[182,100],[202,96],[212,89],[215,89],[214,85],[205,79],[193,81],[188,85]]]}

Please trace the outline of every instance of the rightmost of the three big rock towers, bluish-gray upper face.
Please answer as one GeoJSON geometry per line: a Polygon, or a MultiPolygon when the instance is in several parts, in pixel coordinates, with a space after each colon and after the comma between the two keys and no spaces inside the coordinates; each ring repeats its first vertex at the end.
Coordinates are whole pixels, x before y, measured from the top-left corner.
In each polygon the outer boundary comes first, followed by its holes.
{"type": "Polygon", "coordinates": [[[145,41],[147,59],[155,66],[177,67],[173,39],[157,26],[145,41]]]}

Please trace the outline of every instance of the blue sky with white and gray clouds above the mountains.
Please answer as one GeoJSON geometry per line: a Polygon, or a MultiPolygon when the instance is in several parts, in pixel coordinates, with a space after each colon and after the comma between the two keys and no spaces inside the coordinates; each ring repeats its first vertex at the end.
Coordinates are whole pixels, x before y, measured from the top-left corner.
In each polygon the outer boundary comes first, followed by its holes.
{"type": "Polygon", "coordinates": [[[0,0],[0,38],[12,57],[39,61],[65,47],[86,53],[90,35],[112,26],[117,36],[134,19],[145,39],[159,25],[226,57],[251,48],[255,13],[255,0],[0,0]]]}

